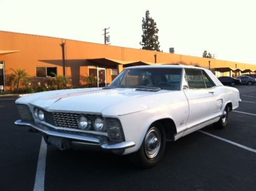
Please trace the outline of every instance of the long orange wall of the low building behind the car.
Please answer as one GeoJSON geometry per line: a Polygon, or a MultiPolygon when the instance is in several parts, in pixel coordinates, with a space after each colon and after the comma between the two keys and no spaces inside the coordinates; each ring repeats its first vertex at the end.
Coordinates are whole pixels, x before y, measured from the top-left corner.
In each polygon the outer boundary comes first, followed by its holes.
{"type": "MultiPolygon", "coordinates": [[[[62,42],[66,43],[66,73],[67,75],[72,76],[72,82],[76,86],[80,82],[80,75],[88,75],[87,66],[93,64],[87,60],[90,58],[154,62],[154,55],[156,54],[157,63],[183,63],[185,65],[199,65],[208,68],[210,60],[211,68],[235,68],[235,64],[237,64],[237,68],[240,69],[256,70],[256,65],[240,62],[115,47],[83,41],[5,31],[0,31],[0,50],[20,50],[20,52],[0,55],[0,60],[5,61],[5,70],[7,74],[11,72],[10,69],[12,68],[24,69],[30,76],[35,76],[36,66],[52,66],[57,67],[58,75],[63,75],[62,48],[60,46],[62,42]]],[[[106,72],[107,83],[109,83],[112,80],[110,69],[106,72]]]]}

